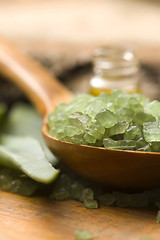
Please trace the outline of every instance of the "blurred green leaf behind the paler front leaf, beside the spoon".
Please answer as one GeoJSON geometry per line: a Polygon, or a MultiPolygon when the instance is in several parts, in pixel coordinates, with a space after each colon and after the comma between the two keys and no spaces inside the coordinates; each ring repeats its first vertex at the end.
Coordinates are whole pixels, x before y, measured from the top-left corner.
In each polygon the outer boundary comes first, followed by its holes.
{"type": "Polygon", "coordinates": [[[41,134],[42,118],[29,104],[16,103],[8,114],[5,123],[5,133],[16,136],[32,136],[43,145],[45,155],[52,163],[56,165],[57,159],[47,148],[41,134]]]}

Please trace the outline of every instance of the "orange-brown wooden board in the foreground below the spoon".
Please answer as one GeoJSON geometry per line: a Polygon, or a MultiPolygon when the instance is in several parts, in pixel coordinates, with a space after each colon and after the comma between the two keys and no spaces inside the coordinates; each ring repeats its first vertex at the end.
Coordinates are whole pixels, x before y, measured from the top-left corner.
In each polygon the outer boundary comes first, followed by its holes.
{"type": "Polygon", "coordinates": [[[156,211],[101,207],[0,192],[0,240],[72,240],[77,229],[99,240],[160,239],[156,211]],[[150,239],[149,238],[149,239],[150,239]]]}

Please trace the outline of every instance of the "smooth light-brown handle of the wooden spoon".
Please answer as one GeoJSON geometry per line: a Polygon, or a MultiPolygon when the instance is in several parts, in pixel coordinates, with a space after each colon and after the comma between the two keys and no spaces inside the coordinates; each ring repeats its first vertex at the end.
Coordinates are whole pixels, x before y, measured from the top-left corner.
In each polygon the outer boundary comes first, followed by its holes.
{"type": "Polygon", "coordinates": [[[19,86],[42,116],[73,94],[18,47],[0,38],[0,73],[19,86]]]}

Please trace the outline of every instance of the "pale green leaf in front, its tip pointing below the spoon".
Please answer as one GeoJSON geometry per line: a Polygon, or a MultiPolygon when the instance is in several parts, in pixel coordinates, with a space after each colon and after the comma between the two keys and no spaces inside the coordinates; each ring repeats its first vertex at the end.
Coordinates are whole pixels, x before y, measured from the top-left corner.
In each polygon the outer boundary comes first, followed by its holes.
{"type": "Polygon", "coordinates": [[[32,137],[3,135],[0,165],[17,168],[42,183],[52,182],[59,174],[59,170],[49,163],[40,143],[32,137]]]}

